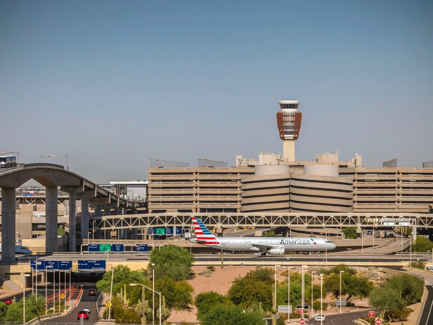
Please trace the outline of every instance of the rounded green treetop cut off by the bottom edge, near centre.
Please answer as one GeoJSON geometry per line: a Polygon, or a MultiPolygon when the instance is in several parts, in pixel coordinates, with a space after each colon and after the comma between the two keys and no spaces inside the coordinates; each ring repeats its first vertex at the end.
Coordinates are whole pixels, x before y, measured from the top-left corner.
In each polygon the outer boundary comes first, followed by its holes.
{"type": "Polygon", "coordinates": [[[242,309],[239,306],[216,305],[207,312],[202,325],[265,325],[259,312],[242,309]]]}

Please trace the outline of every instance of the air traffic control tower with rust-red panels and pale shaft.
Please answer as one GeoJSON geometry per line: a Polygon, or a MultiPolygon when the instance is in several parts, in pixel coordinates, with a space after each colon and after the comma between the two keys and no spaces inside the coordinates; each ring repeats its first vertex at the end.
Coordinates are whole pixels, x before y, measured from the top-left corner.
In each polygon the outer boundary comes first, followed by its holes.
{"type": "Polygon", "coordinates": [[[281,112],[277,113],[277,126],[283,140],[283,158],[295,161],[295,140],[301,130],[302,113],[297,110],[299,101],[280,101],[281,112]]]}

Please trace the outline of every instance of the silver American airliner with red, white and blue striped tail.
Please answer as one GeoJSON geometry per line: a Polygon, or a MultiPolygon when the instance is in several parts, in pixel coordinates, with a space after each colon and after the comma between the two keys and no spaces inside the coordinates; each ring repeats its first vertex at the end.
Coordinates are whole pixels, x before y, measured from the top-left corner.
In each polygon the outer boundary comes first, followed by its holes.
{"type": "Polygon", "coordinates": [[[200,218],[192,217],[192,223],[196,238],[191,238],[191,242],[222,250],[250,250],[262,255],[283,255],[286,250],[317,251],[320,256],[320,252],[336,247],[320,237],[215,237],[200,218]]]}

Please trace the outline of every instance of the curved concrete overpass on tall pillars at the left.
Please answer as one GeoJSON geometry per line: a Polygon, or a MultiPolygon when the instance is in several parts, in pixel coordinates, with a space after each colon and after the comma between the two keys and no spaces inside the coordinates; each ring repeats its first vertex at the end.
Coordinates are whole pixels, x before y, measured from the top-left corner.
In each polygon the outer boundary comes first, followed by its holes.
{"type": "Polygon", "coordinates": [[[111,214],[126,214],[126,209],[136,213],[136,203],[115,195],[94,182],[73,172],[65,170],[63,166],[35,163],[7,169],[0,173],[0,188],[2,189],[2,263],[15,263],[15,214],[16,188],[30,179],[34,179],[45,186],[46,192],[46,252],[57,251],[57,192],[69,194],[69,240],[68,250],[76,250],[76,198],[81,198],[82,231],[81,237],[87,238],[89,228],[89,205],[95,207],[95,216],[102,216],[102,209],[111,214]]]}

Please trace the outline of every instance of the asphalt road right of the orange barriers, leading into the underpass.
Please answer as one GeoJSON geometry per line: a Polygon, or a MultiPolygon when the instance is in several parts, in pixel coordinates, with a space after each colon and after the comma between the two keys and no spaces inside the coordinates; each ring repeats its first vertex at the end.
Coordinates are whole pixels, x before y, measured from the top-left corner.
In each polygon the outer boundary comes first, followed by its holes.
{"type": "Polygon", "coordinates": [[[90,307],[90,317],[89,320],[84,320],[84,324],[94,324],[99,320],[96,302],[99,298],[100,292],[97,292],[96,296],[89,296],[89,289],[96,289],[96,281],[90,282],[88,274],[76,274],[75,280],[77,282],[75,285],[83,286],[83,294],[81,296],[81,300],[78,305],[74,308],[74,310],[64,317],[48,320],[47,322],[42,322],[42,325],[52,325],[53,322],[58,324],[80,324],[80,320],[77,319],[78,312],[83,310],[83,307],[90,307]]]}

